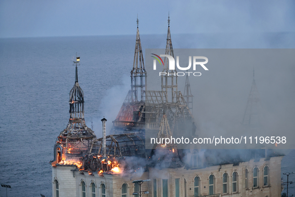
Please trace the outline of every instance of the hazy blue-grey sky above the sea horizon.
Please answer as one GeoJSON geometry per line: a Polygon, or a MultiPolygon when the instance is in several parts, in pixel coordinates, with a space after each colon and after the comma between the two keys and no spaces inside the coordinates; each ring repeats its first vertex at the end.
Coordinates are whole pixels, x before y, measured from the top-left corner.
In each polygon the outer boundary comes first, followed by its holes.
{"type": "Polygon", "coordinates": [[[1,0],[0,37],[295,31],[292,0],[1,0]]]}

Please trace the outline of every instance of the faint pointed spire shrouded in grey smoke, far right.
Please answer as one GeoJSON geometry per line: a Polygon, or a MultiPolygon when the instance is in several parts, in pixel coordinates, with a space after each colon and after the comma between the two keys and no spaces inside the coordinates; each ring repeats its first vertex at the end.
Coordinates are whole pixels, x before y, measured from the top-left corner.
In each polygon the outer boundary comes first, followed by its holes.
{"type": "Polygon", "coordinates": [[[261,108],[260,96],[256,86],[255,71],[253,68],[253,81],[252,81],[251,91],[249,93],[242,123],[244,125],[252,125],[252,126],[258,125],[260,108],[261,108]]]}

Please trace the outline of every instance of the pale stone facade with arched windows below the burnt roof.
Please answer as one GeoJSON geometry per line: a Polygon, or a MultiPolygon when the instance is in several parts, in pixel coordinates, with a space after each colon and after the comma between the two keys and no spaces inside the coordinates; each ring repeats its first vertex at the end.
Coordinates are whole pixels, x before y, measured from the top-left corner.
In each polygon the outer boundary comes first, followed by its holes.
{"type": "MultiPolygon", "coordinates": [[[[59,196],[83,196],[82,181],[86,185],[86,196],[92,197],[92,185],[95,184],[95,196],[104,197],[101,193],[102,184],[105,185],[105,197],[122,196],[122,185],[127,184],[127,196],[133,196],[134,183],[133,180],[151,179],[149,182],[142,184],[142,190],[148,190],[149,194],[143,194],[146,197],[155,197],[154,181],[156,180],[156,195],[163,196],[163,179],[167,179],[168,196],[194,196],[195,180],[199,180],[198,190],[199,196],[209,195],[209,177],[214,177],[213,190],[214,195],[210,196],[251,196],[251,197],[279,197],[281,196],[281,160],[283,156],[270,157],[269,159],[261,158],[260,160],[250,160],[248,162],[240,162],[237,165],[225,164],[215,165],[203,168],[149,168],[143,173],[123,173],[112,174],[104,172],[103,176],[94,172],[89,174],[85,171],[78,171],[75,166],[63,165],[52,167],[52,193],[56,196],[55,182],[59,184],[59,196]],[[267,168],[265,168],[267,166],[267,168]],[[257,167],[257,187],[253,187],[254,177],[253,171],[257,167]],[[246,179],[246,169],[248,175],[246,179]],[[268,169],[268,173],[264,173],[264,169],[268,169]],[[233,192],[233,173],[237,173],[237,191],[233,192]],[[227,174],[226,193],[223,193],[223,174],[227,174]],[[267,175],[265,175],[267,174],[267,175]],[[176,188],[176,180],[179,182],[179,189],[176,188]],[[264,181],[267,179],[267,185],[264,181]],[[246,188],[246,181],[247,188],[246,188]],[[176,194],[179,190],[179,195],[176,194]]],[[[165,180],[164,180],[165,181],[165,180]]]]}

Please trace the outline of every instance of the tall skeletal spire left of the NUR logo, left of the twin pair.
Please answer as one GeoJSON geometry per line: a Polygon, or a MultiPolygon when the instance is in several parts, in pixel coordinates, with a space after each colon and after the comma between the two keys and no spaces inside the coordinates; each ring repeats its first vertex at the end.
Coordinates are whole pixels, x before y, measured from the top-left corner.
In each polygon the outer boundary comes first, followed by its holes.
{"type": "Polygon", "coordinates": [[[144,59],[141,48],[139,28],[137,22],[136,42],[134,50],[133,68],[131,70],[131,101],[144,101],[146,89],[146,70],[144,67],[144,59]]]}

